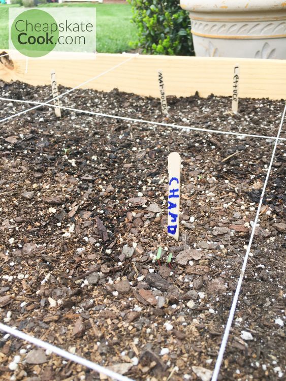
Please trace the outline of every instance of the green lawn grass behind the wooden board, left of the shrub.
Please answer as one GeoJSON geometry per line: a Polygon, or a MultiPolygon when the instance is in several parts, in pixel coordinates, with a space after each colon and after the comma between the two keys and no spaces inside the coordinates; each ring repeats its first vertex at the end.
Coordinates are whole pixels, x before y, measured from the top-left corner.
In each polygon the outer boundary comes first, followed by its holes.
{"type": "MultiPolygon", "coordinates": [[[[8,8],[17,5],[0,5],[0,49],[8,49],[8,8]]],[[[41,7],[94,7],[97,8],[97,51],[121,53],[131,50],[136,41],[136,26],[131,22],[129,4],[45,4],[41,7]]],[[[38,7],[39,8],[39,7],[38,7]]]]}

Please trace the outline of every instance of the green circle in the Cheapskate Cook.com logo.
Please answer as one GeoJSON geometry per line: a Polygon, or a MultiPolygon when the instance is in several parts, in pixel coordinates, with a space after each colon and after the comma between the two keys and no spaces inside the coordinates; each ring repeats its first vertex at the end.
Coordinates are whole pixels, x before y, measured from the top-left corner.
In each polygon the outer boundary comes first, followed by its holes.
{"type": "Polygon", "coordinates": [[[11,27],[15,48],[27,57],[43,57],[58,41],[58,25],[47,12],[30,9],[18,15],[11,27]]]}

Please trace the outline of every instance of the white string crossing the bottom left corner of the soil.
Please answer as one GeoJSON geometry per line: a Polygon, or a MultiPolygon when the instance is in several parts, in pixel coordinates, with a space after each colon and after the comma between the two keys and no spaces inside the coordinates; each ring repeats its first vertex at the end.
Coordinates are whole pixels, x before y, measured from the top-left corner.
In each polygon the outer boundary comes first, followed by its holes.
{"type": "Polygon", "coordinates": [[[0,323],[0,330],[7,332],[13,336],[18,337],[19,339],[28,341],[32,344],[35,344],[41,348],[44,348],[45,350],[48,350],[58,356],[61,356],[67,360],[73,361],[75,363],[81,364],[83,366],[86,366],[89,369],[95,370],[99,373],[103,373],[107,375],[108,377],[111,377],[112,379],[116,379],[118,381],[135,381],[132,378],[125,377],[119,373],[114,372],[113,370],[110,370],[108,368],[105,368],[103,366],[100,366],[98,364],[93,363],[92,361],[86,360],[83,357],[79,357],[77,355],[73,355],[72,353],[69,353],[67,351],[62,350],[61,348],[58,348],[55,345],[49,344],[46,341],[42,341],[40,339],[37,339],[36,337],[27,335],[24,332],[18,331],[15,328],[11,328],[5,324],[0,323]]]}

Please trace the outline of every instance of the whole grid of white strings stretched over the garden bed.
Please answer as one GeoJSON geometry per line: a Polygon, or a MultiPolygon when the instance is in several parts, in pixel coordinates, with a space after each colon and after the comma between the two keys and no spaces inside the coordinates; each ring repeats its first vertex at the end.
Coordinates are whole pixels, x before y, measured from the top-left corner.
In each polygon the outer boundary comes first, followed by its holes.
{"type": "MultiPolygon", "coordinates": [[[[6,54],[6,55],[8,55],[8,54],[6,54]]],[[[136,56],[136,55],[134,55],[134,56],[136,56]]],[[[104,74],[107,74],[108,72],[116,69],[117,67],[119,67],[123,63],[125,63],[125,62],[129,61],[130,59],[134,58],[134,56],[130,57],[129,59],[126,59],[125,61],[119,63],[118,65],[116,65],[113,68],[105,71],[104,73],[101,73],[100,75],[98,75],[96,77],[93,77],[93,78],[91,78],[91,79],[81,83],[80,85],[78,85],[78,86],[76,86],[76,87],[74,87],[74,88],[72,88],[72,89],[70,89],[70,90],[60,94],[58,96],[58,98],[61,98],[61,97],[65,96],[66,94],[70,93],[71,91],[79,88],[80,86],[83,86],[83,85],[93,81],[94,79],[97,79],[100,76],[102,76],[104,74]]],[[[21,115],[23,113],[26,113],[26,112],[28,112],[30,110],[34,110],[34,109],[36,109],[36,108],[38,108],[40,106],[55,107],[54,105],[49,104],[50,102],[52,102],[54,100],[53,98],[51,100],[45,102],[45,103],[31,102],[31,101],[19,101],[19,100],[7,99],[7,98],[0,98],[0,99],[1,100],[6,100],[6,101],[12,101],[12,102],[23,102],[23,103],[37,104],[37,106],[34,106],[34,107],[30,108],[30,109],[21,111],[19,113],[13,114],[13,115],[11,115],[11,116],[9,116],[7,118],[1,119],[0,122],[8,120],[8,119],[10,119],[12,117],[16,117],[16,116],[21,115]]],[[[223,131],[210,130],[210,129],[199,129],[199,128],[189,127],[189,126],[181,126],[181,125],[162,123],[162,122],[153,122],[153,121],[148,121],[148,120],[144,120],[144,119],[135,119],[135,118],[128,118],[128,117],[122,117],[122,116],[116,116],[116,115],[109,115],[109,114],[103,114],[103,113],[97,113],[97,112],[79,110],[79,109],[74,109],[74,108],[64,107],[64,106],[57,106],[57,107],[60,107],[62,109],[67,109],[67,110],[75,111],[75,112],[87,113],[87,114],[91,114],[91,115],[97,115],[97,116],[109,117],[109,118],[115,118],[115,119],[122,119],[122,120],[129,120],[129,121],[141,122],[141,123],[149,123],[149,124],[154,124],[154,125],[163,125],[163,126],[169,126],[169,127],[178,128],[178,129],[194,130],[194,131],[201,131],[201,132],[203,131],[203,132],[226,134],[226,135],[238,135],[238,136],[265,138],[265,139],[275,139],[275,144],[274,144],[274,148],[273,148],[273,152],[272,152],[272,156],[271,156],[271,161],[270,161],[270,164],[269,164],[269,167],[268,167],[268,171],[267,171],[267,175],[266,175],[266,179],[265,179],[265,182],[264,182],[264,186],[263,186],[263,190],[262,190],[259,206],[258,206],[258,209],[257,209],[256,218],[255,218],[255,221],[254,221],[253,226],[252,226],[252,231],[251,231],[249,243],[248,243],[248,246],[247,246],[247,250],[246,250],[246,253],[245,253],[245,257],[244,257],[244,261],[243,261],[243,266],[241,268],[240,277],[239,277],[239,280],[238,280],[238,283],[237,283],[237,288],[236,288],[236,292],[235,292],[234,299],[233,299],[233,302],[232,302],[232,306],[231,306],[230,314],[229,314],[229,317],[228,317],[226,329],[225,329],[225,332],[224,332],[223,340],[221,341],[218,357],[217,357],[215,368],[214,368],[213,375],[212,375],[212,380],[211,381],[217,381],[217,377],[218,377],[218,374],[219,374],[221,363],[223,361],[223,357],[224,357],[224,353],[225,353],[228,337],[229,337],[229,334],[230,334],[230,329],[231,329],[231,326],[232,326],[232,322],[233,322],[233,318],[234,318],[234,314],[235,314],[235,310],[236,310],[236,305],[237,305],[238,297],[239,297],[239,294],[240,294],[240,289],[241,289],[242,281],[243,281],[243,278],[244,278],[244,273],[245,273],[245,269],[246,269],[246,265],[247,265],[247,261],[248,261],[248,257],[249,257],[249,252],[250,252],[252,240],[253,240],[253,237],[254,237],[254,234],[255,234],[255,229],[256,229],[256,226],[257,226],[257,223],[258,223],[259,214],[260,214],[260,210],[261,210],[261,206],[262,206],[262,202],[263,202],[266,186],[267,186],[267,183],[268,183],[268,179],[269,179],[269,176],[270,176],[272,164],[273,164],[273,161],[274,161],[274,156],[275,156],[277,144],[278,144],[279,140],[286,140],[285,138],[280,138],[280,133],[281,133],[281,130],[282,130],[282,125],[283,125],[283,121],[284,121],[284,117],[285,117],[285,112],[286,112],[286,105],[285,105],[285,108],[284,108],[284,111],[283,111],[283,114],[282,114],[281,123],[280,123],[278,134],[277,134],[276,138],[275,137],[264,136],[264,135],[241,134],[241,133],[223,132],[223,131]]],[[[14,329],[14,328],[10,328],[10,327],[2,324],[2,323],[0,323],[0,329],[5,331],[5,332],[7,332],[7,333],[10,333],[10,334],[12,334],[12,335],[14,335],[16,337],[19,337],[19,338],[21,338],[23,340],[26,340],[26,341],[29,341],[31,343],[34,343],[37,346],[43,347],[45,349],[48,349],[51,352],[53,352],[53,353],[55,353],[55,354],[57,354],[57,355],[59,355],[61,357],[67,358],[68,360],[77,362],[77,363],[79,363],[81,365],[84,365],[84,366],[90,368],[90,369],[96,370],[96,371],[101,372],[103,374],[106,374],[106,375],[108,375],[110,377],[113,377],[113,378],[115,378],[118,381],[121,381],[121,380],[122,381],[134,381],[134,380],[132,380],[132,379],[130,379],[128,377],[125,377],[125,376],[122,376],[122,375],[120,375],[118,373],[115,373],[115,372],[113,372],[113,371],[111,371],[111,370],[109,370],[107,368],[101,367],[100,365],[94,364],[94,363],[92,363],[92,362],[90,362],[90,361],[88,361],[88,360],[86,360],[84,358],[81,358],[79,356],[70,354],[69,352],[63,351],[60,348],[58,348],[58,347],[56,347],[54,345],[51,345],[49,343],[46,343],[46,342],[44,342],[42,340],[39,340],[39,339],[37,339],[37,338],[35,338],[33,336],[26,335],[25,333],[23,333],[21,331],[18,331],[18,330],[14,329]]]]}

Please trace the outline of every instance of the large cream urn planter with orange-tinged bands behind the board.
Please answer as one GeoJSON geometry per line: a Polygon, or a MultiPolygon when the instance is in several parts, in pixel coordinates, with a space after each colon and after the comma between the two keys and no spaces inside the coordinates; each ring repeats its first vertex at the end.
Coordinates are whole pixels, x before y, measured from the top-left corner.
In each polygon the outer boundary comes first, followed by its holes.
{"type": "Polygon", "coordinates": [[[286,59],[286,1],[180,0],[197,56],[286,59]]]}

